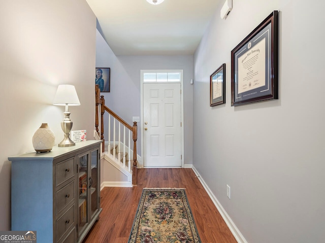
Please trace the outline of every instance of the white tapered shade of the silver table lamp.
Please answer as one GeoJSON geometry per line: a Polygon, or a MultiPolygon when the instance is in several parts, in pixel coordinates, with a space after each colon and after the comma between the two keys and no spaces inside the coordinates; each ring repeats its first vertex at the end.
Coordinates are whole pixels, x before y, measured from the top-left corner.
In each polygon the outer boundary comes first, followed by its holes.
{"type": "Polygon", "coordinates": [[[80,105],[76,88],[73,85],[59,85],[53,105],[80,105]]]}

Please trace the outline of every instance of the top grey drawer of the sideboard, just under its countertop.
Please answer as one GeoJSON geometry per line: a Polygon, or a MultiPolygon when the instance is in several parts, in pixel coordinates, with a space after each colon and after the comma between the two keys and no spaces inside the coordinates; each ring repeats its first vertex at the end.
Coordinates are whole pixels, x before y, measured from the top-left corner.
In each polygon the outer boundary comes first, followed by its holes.
{"type": "Polygon", "coordinates": [[[57,163],[55,167],[56,186],[74,177],[76,175],[75,168],[76,167],[74,157],[68,158],[60,163],[57,163]]]}

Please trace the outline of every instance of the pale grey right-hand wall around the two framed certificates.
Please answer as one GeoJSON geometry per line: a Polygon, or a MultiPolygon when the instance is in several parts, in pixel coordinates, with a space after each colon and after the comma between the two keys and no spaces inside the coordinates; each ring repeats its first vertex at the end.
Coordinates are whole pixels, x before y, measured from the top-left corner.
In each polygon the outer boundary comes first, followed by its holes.
{"type": "Polygon", "coordinates": [[[325,238],[324,8],[320,0],[233,0],[194,55],[193,164],[250,243],[325,238]],[[231,107],[231,51],[273,10],[279,100],[231,107]],[[226,104],[212,108],[209,76],[222,63],[226,104]]]}

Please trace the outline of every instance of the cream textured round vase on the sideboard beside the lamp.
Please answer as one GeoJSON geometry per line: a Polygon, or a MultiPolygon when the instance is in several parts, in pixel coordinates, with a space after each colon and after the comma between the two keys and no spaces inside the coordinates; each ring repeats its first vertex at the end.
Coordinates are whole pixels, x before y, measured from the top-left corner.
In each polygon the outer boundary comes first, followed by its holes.
{"type": "Polygon", "coordinates": [[[36,152],[49,152],[54,146],[55,136],[47,123],[42,123],[41,127],[36,130],[32,136],[32,146],[36,152]]]}

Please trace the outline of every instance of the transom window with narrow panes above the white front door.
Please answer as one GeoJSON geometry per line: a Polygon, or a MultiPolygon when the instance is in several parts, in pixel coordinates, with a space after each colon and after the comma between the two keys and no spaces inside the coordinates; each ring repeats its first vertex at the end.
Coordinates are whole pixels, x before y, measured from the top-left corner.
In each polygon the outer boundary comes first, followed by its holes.
{"type": "Polygon", "coordinates": [[[181,72],[144,72],[143,82],[145,83],[158,83],[158,82],[168,82],[168,83],[180,83],[181,82],[181,72]]]}

